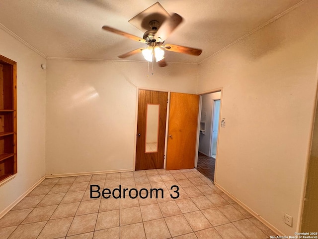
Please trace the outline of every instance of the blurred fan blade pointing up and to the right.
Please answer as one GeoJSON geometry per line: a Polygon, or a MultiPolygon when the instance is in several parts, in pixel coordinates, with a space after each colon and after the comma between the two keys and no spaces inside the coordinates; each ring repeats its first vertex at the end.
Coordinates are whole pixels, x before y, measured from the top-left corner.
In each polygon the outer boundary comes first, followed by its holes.
{"type": "Polygon", "coordinates": [[[171,18],[166,19],[159,27],[155,39],[157,42],[164,41],[168,38],[172,31],[181,23],[182,17],[177,13],[173,13],[171,18]]]}

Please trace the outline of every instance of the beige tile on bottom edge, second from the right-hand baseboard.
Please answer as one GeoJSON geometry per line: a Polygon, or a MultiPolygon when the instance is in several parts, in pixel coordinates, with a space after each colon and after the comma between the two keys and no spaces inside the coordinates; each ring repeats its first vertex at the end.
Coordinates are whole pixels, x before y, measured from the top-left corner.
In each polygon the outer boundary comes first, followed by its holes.
{"type": "Polygon", "coordinates": [[[267,239],[268,236],[258,229],[251,221],[244,219],[234,222],[233,225],[239,229],[239,231],[247,239],[267,239]]]}

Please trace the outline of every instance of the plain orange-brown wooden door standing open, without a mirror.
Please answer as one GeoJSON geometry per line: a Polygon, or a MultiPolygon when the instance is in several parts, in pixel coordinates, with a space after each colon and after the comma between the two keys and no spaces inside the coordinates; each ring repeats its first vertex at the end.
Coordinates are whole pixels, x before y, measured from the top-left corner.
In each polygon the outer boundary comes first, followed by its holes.
{"type": "Polygon", "coordinates": [[[170,93],[166,169],[194,168],[199,95],[170,93]]]}

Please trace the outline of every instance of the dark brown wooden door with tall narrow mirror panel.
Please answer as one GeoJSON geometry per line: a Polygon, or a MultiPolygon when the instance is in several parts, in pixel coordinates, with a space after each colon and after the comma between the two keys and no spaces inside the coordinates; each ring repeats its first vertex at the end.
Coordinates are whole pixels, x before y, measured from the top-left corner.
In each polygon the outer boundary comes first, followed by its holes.
{"type": "Polygon", "coordinates": [[[163,168],[167,99],[167,92],[139,90],[136,170],[163,168]],[[152,117],[152,114],[158,115],[152,117]],[[149,129],[152,125],[151,120],[156,121],[156,118],[158,130],[153,129],[151,133],[149,129]],[[155,135],[154,131],[158,133],[155,135]],[[156,137],[157,144],[153,142],[156,137]],[[150,142],[149,138],[151,138],[150,142]]]}

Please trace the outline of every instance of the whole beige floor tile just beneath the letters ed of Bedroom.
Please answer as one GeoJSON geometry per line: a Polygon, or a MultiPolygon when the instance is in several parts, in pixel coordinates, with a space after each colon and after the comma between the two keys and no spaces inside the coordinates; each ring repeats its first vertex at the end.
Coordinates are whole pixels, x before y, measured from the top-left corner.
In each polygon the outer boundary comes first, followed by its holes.
{"type": "Polygon", "coordinates": [[[119,210],[98,213],[95,230],[119,227],[119,210]]]}

